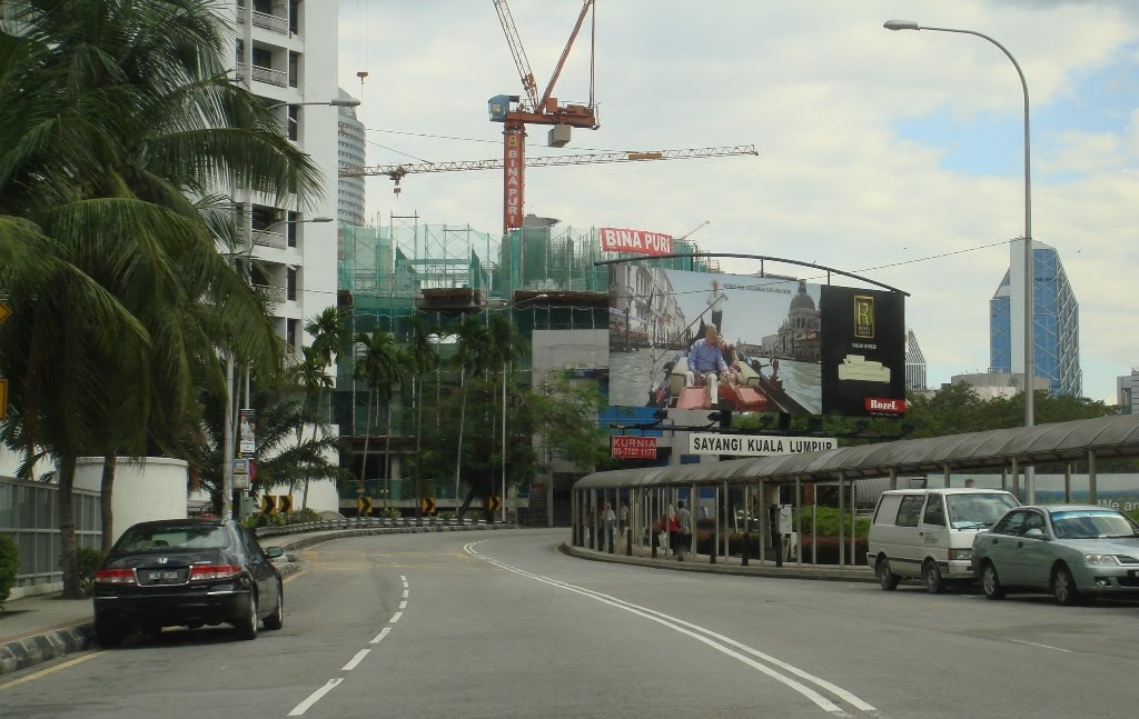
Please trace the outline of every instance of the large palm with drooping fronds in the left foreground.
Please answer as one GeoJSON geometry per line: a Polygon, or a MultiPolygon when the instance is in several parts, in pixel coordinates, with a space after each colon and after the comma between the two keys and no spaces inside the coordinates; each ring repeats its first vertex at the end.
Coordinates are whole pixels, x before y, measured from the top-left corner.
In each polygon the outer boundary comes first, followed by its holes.
{"type": "MultiPolygon", "coordinates": [[[[32,424],[25,441],[58,458],[64,584],[74,596],[75,457],[136,455],[185,435],[194,370],[220,370],[218,344],[265,371],[279,360],[260,303],[216,251],[212,188],[232,181],[301,206],[319,173],[226,77],[222,26],[206,0],[9,0],[5,9],[17,23],[0,26],[0,214],[26,218],[25,230],[51,238],[90,280],[62,270],[19,278],[35,322],[16,325],[25,356],[5,355],[2,367],[23,385],[13,398],[32,424]],[[76,312],[97,301],[106,315],[108,298],[115,322],[76,312]],[[145,381],[122,396],[108,371],[145,381]]],[[[0,242],[13,237],[0,231],[0,242]]]]}

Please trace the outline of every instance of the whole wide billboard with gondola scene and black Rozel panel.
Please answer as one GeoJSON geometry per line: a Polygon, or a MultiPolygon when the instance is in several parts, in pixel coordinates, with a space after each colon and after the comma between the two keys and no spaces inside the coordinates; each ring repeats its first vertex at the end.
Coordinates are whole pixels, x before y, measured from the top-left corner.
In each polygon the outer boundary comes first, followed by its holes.
{"type": "Polygon", "coordinates": [[[609,404],[899,416],[903,297],[778,275],[613,265],[609,404]],[[687,373],[710,325],[737,360],[716,407],[687,373]]]}

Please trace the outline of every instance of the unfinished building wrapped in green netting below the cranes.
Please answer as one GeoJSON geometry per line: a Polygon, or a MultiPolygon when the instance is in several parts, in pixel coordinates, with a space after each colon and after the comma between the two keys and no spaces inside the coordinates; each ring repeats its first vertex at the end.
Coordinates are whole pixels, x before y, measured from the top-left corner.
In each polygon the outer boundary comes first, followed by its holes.
{"type": "MultiPolygon", "coordinates": [[[[688,256],[644,258],[642,263],[707,271],[707,263],[694,258],[699,251],[677,240],[673,253],[688,256]]],[[[494,313],[509,313],[527,341],[534,330],[608,331],[609,267],[595,263],[620,256],[600,250],[593,228],[563,226],[533,215],[506,238],[469,225],[427,224],[417,215],[392,215],[386,226],[341,228],[337,301],[351,317],[353,337],[379,329],[400,345],[408,341],[411,319],[417,315],[429,327],[448,328],[473,313],[487,322],[494,313]]],[[[443,337],[439,340],[445,361],[453,344],[443,337]]],[[[354,463],[354,474],[363,461],[366,438],[369,451],[363,482],[342,488],[342,510],[354,513],[360,495],[383,497],[387,506],[410,512],[415,491],[401,490],[400,464],[416,448],[410,412],[403,412],[411,403],[393,397],[391,430],[386,407],[372,412],[369,425],[368,389],[354,380],[353,354],[344,353],[339,361],[334,421],[353,449],[351,455],[345,453],[345,464],[354,463]]],[[[525,357],[516,369],[523,378],[530,377],[531,360],[525,357]]],[[[448,484],[439,486],[441,510],[456,506],[453,487],[452,496],[446,496],[448,484]]],[[[525,496],[526,488],[522,493],[525,496]]],[[[508,506],[515,505],[508,501],[508,506]]],[[[546,514],[554,518],[556,512],[546,514]]]]}

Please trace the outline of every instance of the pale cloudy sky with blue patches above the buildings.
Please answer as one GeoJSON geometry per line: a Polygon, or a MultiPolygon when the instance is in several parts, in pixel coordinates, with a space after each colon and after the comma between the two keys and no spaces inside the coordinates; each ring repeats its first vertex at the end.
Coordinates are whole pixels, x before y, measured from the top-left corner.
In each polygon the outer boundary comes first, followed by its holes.
{"type": "MultiPolygon", "coordinates": [[[[543,90],[577,0],[510,0],[543,90]]],[[[1139,366],[1139,3],[1129,0],[597,0],[601,127],[527,154],[754,144],[759,157],[530,168],[526,212],[573,226],[691,235],[707,251],[788,257],[910,292],[907,324],[937,386],[989,366],[989,299],[1032,230],[1080,303],[1084,395],[1114,404],[1139,366]]],[[[369,164],[501,156],[493,94],[522,93],[490,0],[342,0],[341,86],[359,97],[369,164]],[[361,82],[358,73],[367,72],[361,82]]],[[[589,97],[583,31],[557,83],[589,97]]],[[[500,171],[368,180],[369,213],[501,228],[500,171]]],[[[721,261],[756,272],[753,261],[721,261]]],[[[789,265],[769,271],[794,273],[789,265]]],[[[823,276],[809,276],[826,281],[823,276]]]]}

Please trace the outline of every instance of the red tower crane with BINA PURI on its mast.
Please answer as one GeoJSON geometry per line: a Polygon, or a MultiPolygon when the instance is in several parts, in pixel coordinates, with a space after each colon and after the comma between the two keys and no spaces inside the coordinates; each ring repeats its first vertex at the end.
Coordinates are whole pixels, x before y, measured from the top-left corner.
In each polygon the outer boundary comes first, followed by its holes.
{"type": "Polygon", "coordinates": [[[498,94],[492,97],[489,102],[491,121],[503,123],[502,234],[506,234],[511,228],[522,226],[525,167],[528,165],[525,160],[526,125],[552,125],[549,133],[550,147],[565,147],[570,142],[573,127],[597,130],[600,126],[597,119],[597,104],[593,100],[593,38],[596,38],[597,14],[592,15],[592,26],[590,27],[589,102],[584,105],[580,102],[559,104],[557,98],[552,97],[554,85],[562,74],[566,58],[570,57],[570,50],[577,39],[577,33],[581,32],[585,16],[590,15],[590,10],[593,8],[593,0],[584,0],[582,3],[577,23],[574,25],[573,32],[570,33],[570,40],[554,67],[554,74],[550,76],[550,82],[546,85],[541,98],[538,97],[538,82],[530,68],[530,60],[526,59],[526,51],[522,47],[522,38],[519,38],[518,28],[515,27],[514,18],[510,16],[510,8],[506,0],[493,0],[493,2],[499,22],[502,24],[502,32],[506,33],[507,44],[510,46],[514,64],[518,68],[522,86],[526,91],[525,99],[517,94],[498,94]]]}

